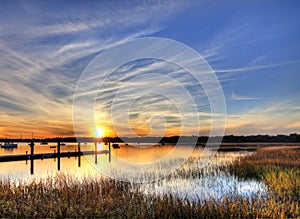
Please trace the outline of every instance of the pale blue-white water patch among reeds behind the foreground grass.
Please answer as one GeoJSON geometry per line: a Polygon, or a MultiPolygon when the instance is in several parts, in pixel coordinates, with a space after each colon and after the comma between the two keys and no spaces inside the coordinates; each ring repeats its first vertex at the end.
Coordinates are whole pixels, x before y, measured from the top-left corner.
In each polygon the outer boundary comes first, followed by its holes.
{"type": "Polygon", "coordinates": [[[144,185],[141,190],[153,194],[175,194],[191,200],[222,200],[225,196],[266,195],[266,186],[254,180],[239,181],[233,176],[203,176],[199,179],[172,179],[160,184],[144,185]]]}

